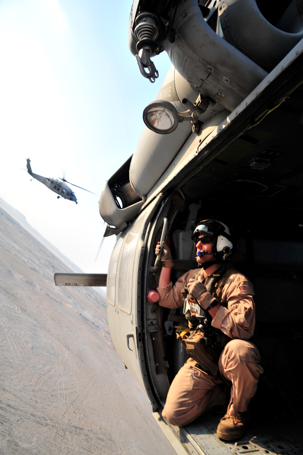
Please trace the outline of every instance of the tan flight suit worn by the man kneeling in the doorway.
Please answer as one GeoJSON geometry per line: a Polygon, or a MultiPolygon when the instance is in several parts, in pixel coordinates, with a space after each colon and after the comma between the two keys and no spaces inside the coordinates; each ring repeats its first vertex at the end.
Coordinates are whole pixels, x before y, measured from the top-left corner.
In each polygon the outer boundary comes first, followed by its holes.
{"type": "MultiPolygon", "coordinates": [[[[166,308],[183,307],[181,290],[199,271],[198,280],[205,278],[204,284],[207,286],[210,278],[204,269],[190,270],[175,285],[170,282],[167,286],[157,288],[159,305],[166,308]]],[[[231,338],[219,358],[220,373],[232,383],[228,408],[231,416],[247,410],[250,399],[256,393],[259,375],[263,373],[256,346],[245,341],[252,337],[255,328],[253,295],[250,281],[239,272],[233,273],[222,288],[222,306],[211,322],[213,327],[231,338]]],[[[205,298],[208,304],[215,300],[210,293],[205,298]]],[[[162,415],[172,425],[187,425],[211,406],[225,401],[222,379],[210,376],[195,364],[193,359],[188,359],[170,385],[162,415]]]]}

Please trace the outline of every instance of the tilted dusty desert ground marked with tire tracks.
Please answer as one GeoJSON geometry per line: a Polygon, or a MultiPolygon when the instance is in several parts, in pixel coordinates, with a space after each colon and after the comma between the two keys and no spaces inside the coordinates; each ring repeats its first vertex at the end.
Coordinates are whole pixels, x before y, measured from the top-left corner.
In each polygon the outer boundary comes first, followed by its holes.
{"type": "Polygon", "coordinates": [[[5,210],[0,205],[0,455],[174,455],[111,344],[105,295],[55,287],[53,274],[72,265],[5,210]]]}

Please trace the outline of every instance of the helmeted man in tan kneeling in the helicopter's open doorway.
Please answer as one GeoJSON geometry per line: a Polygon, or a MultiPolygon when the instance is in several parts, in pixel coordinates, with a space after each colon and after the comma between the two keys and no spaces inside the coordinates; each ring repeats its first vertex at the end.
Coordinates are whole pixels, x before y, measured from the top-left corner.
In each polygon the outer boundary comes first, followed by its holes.
{"type": "MultiPolygon", "coordinates": [[[[203,220],[195,227],[192,239],[201,268],[185,273],[174,285],[170,280],[173,259],[163,242],[157,288],[159,305],[183,307],[181,291],[186,285],[196,306],[190,306],[190,317],[187,318],[190,319],[190,331],[187,329],[185,338],[190,340],[189,335],[198,334],[199,328],[205,332],[205,324],[200,324],[202,319],[199,317],[206,315],[211,321],[212,335],[221,339],[221,348],[215,347],[218,343],[205,348],[205,359],[211,355],[210,366],[203,359],[198,363],[196,356],[186,361],[170,385],[162,415],[172,425],[187,425],[210,407],[224,404],[225,384],[231,384],[230,402],[217,427],[217,436],[224,440],[238,440],[246,430],[247,407],[263,372],[257,347],[249,341],[255,328],[254,291],[252,283],[228,265],[234,243],[224,223],[203,220]]],[[[159,251],[158,243],[156,255],[159,251]]],[[[194,338],[191,336],[191,340],[194,338]]],[[[200,347],[204,349],[205,339],[201,339],[201,343],[200,347]]],[[[187,352],[193,351],[187,349],[187,352]]]]}

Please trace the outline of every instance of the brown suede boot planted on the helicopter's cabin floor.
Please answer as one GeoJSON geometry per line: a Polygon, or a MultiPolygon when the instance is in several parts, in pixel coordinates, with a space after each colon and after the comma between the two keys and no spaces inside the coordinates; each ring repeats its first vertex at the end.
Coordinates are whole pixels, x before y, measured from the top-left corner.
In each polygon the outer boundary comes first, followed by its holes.
{"type": "Polygon", "coordinates": [[[249,419],[248,411],[238,412],[236,417],[228,414],[228,411],[219,422],[217,436],[226,441],[235,441],[241,439],[244,435],[247,422],[249,419]]]}

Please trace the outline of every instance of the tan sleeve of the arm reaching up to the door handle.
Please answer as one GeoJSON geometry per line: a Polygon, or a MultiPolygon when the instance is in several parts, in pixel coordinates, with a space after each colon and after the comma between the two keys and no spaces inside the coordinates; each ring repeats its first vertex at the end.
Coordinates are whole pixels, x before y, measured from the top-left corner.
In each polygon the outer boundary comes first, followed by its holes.
{"type": "Polygon", "coordinates": [[[183,296],[182,296],[182,289],[184,288],[185,284],[188,283],[190,278],[194,278],[196,273],[200,269],[190,270],[182,275],[176,282],[173,284],[170,282],[166,286],[161,288],[157,288],[159,292],[160,299],[159,305],[161,307],[166,308],[180,308],[183,307],[183,296]]]}

